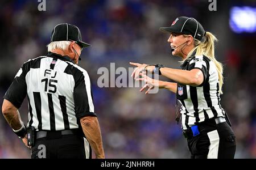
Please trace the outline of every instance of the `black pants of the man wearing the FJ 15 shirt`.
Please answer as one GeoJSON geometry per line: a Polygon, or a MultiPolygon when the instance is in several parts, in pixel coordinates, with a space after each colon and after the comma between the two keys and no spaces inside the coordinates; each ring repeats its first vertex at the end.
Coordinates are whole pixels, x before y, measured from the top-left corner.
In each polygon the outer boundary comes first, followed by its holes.
{"type": "Polygon", "coordinates": [[[39,138],[31,148],[31,158],[85,159],[91,158],[91,148],[85,138],[79,135],[39,138]]]}

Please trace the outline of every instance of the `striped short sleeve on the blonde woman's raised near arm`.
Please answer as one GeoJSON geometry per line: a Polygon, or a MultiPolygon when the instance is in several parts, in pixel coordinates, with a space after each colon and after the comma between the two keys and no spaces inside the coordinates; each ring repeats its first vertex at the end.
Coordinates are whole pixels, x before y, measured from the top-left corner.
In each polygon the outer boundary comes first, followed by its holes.
{"type": "Polygon", "coordinates": [[[205,80],[207,79],[207,63],[204,61],[203,56],[196,56],[195,58],[191,59],[189,62],[188,70],[192,69],[200,69],[204,75],[204,81],[199,85],[199,87],[204,86],[205,80]]]}

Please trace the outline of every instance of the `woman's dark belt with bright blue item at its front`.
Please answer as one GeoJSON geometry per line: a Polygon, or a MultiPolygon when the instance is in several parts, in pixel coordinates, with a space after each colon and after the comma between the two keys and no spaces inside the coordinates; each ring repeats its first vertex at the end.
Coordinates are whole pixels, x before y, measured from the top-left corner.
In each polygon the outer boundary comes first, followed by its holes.
{"type": "MultiPolygon", "coordinates": [[[[191,126],[189,129],[183,130],[183,135],[185,138],[192,138],[196,135],[199,135],[202,133],[201,128],[203,128],[206,124],[221,124],[223,122],[226,122],[226,119],[224,117],[217,117],[217,118],[210,118],[209,120],[206,120],[204,122],[201,122],[197,125],[191,126]]],[[[205,132],[204,132],[205,133],[205,132]]]]}

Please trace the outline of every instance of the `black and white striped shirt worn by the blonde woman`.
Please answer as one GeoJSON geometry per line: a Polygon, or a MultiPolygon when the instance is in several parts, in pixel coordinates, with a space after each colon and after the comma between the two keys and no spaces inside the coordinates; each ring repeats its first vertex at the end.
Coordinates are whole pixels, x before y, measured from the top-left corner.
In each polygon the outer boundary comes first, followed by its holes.
{"type": "Polygon", "coordinates": [[[183,129],[188,129],[209,118],[225,117],[225,111],[220,104],[220,88],[216,66],[208,57],[194,55],[192,54],[191,57],[186,59],[181,68],[183,70],[200,69],[204,75],[204,82],[197,87],[177,84],[176,97],[182,104],[180,113],[183,129]]]}

